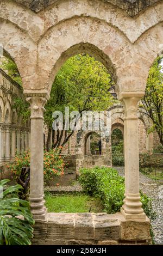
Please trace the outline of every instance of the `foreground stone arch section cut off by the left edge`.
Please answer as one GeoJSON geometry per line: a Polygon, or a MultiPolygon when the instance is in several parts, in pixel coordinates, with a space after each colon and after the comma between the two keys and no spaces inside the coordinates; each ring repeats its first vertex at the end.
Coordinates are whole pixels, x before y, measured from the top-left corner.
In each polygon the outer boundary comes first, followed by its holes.
{"type": "Polygon", "coordinates": [[[23,87],[33,87],[37,77],[37,47],[34,42],[11,22],[0,20],[0,44],[3,54],[16,63],[23,87]]]}

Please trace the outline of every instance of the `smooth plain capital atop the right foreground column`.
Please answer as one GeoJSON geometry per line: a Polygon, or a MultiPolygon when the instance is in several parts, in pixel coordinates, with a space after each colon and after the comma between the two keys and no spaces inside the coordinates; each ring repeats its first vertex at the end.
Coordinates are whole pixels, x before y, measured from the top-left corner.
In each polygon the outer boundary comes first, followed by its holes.
{"type": "Polygon", "coordinates": [[[143,92],[122,92],[120,94],[120,100],[124,106],[124,114],[126,118],[137,118],[136,112],[138,103],[145,93],[143,92]]]}

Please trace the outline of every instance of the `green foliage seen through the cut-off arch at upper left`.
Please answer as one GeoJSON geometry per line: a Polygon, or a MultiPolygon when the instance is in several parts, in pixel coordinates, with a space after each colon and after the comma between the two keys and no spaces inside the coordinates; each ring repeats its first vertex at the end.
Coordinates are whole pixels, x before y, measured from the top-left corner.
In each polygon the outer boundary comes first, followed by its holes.
{"type": "Polygon", "coordinates": [[[11,59],[4,58],[1,68],[4,71],[7,71],[7,74],[18,84],[22,85],[22,80],[20,73],[18,72],[17,66],[15,62],[13,62],[11,59]]]}

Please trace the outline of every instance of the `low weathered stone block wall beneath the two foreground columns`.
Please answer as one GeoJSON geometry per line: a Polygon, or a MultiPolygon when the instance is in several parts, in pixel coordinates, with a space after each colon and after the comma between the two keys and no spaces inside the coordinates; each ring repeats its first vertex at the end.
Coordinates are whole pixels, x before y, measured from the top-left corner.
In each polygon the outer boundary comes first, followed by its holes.
{"type": "Polygon", "coordinates": [[[48,213],[46,222],[35,223],[33,245],[147,245],[150,222],[126,221],[119,212],[48,213]]]}

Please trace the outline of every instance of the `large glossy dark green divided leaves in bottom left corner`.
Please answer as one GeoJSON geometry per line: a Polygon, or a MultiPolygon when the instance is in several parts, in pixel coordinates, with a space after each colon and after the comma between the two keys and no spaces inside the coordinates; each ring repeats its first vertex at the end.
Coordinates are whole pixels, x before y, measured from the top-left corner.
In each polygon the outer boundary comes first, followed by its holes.
{"type": "MultiPolygon", "coordinates": [[[[9,180],[1,180],[0,186],[9,180]]],[[[34,220],[29,203],[18,198],[9,198],[20,185],[9,186],[0,198],[0,245],[31,245],[34,220]],[[19,217],[18,217],[19,216],[19,217]],[[21,217],[20,217],[21,216],[21,217]]]]}

